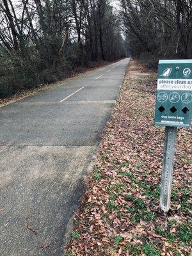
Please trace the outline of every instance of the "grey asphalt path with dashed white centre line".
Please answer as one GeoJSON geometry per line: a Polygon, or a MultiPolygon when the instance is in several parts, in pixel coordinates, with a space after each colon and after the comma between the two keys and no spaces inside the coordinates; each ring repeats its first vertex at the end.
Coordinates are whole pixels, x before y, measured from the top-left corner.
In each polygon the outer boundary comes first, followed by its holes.
{"type": "Polygon", "coordinates": [[[0,255],[63,255],[129,58],[0,109],[0,255]]]}

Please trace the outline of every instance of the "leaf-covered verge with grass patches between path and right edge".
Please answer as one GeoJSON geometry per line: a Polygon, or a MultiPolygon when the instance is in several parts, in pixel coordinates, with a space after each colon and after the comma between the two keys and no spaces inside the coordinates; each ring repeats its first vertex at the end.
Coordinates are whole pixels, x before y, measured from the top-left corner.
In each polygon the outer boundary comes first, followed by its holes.
{"type": "Polygon", "coordinates": [[[154,126],[155,93],[156,73],[132,60],[65,256],[191,255],[191,129],[177,135],[172,204],[164,214],[164,127],[154,126]]]}

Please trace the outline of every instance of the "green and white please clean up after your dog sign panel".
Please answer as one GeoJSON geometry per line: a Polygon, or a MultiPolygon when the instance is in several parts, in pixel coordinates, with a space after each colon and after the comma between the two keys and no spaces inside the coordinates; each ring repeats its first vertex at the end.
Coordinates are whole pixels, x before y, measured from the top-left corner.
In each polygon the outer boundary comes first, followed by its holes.
{"type": "Polygon", "coordinates": [[[192,60],[160,60],[156,125],[190,127],[192,115],[192,60]]]}

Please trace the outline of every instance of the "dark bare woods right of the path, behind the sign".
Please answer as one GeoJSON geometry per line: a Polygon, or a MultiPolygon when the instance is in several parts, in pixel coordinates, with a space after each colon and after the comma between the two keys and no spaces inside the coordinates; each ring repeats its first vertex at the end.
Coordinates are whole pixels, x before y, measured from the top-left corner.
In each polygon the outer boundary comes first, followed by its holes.
{"type": "Polygon", "coordinates": [[[159,58],[192,58],[191,0],[120,0],[132,56],[157,67],[159,58]]]}

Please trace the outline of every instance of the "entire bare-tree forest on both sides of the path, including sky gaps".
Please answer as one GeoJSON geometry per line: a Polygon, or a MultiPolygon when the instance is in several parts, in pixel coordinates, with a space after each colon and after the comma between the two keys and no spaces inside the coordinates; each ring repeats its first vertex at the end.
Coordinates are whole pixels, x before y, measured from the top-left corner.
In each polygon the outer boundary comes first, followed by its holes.
{"type": "Polygon", "coordinates": [[[0,98],[129,55],[192,58],[191,0],[0,2],[0,98]]]}

